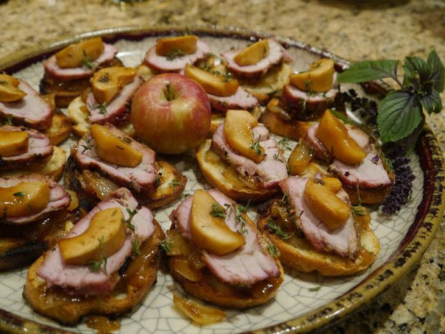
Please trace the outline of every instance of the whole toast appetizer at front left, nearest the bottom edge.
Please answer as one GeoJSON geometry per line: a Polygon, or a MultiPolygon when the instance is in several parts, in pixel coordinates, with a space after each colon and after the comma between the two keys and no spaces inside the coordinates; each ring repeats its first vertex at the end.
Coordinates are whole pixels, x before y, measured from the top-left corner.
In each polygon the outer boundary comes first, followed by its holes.
{"type": "Polygon", "coordinates": [[[69,326],[88,314],[122,315],[156,281],[161,240],[152,212],[120,188],[33,263],[24,299],[69,326]]]}

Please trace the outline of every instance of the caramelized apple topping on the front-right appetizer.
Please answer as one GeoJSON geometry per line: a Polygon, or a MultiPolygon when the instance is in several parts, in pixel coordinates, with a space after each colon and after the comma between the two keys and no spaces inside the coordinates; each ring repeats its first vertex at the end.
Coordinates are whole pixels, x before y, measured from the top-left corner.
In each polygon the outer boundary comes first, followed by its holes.
{"type": "Polygon", "coordinates": [[[305,187],[305,203],[312,213],[333,230],[343,225],[350,215],[350,206],[336,193],[341,189],[337,178],[310,178],[305,187]]]}

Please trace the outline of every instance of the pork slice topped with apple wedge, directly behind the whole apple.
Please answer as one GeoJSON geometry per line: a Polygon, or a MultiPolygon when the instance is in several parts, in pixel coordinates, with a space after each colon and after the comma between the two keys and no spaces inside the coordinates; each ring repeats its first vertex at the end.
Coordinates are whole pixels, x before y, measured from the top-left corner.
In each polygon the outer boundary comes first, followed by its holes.
{"type": "Polygon", "coordinates": [[[143,63],[157,73],[181,72],[207,57],[210,47],[195,35],[163,37],[147,51],[143,63]]]}

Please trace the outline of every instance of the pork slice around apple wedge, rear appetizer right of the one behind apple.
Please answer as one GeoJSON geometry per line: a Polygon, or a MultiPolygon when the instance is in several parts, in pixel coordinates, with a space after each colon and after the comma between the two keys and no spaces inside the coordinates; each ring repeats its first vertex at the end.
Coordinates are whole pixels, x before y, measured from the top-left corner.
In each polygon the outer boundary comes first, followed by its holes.
{"type": "Polygon", "coordinates": [[[268,44],[269,44],[268,56],[264,59],[261,59],[254,65],[241,66],[235,62],[234,57],[241,50],[230,50],[223,53],[222,56],[223,58],[225,58],[225,60],[227,60],[227,67],[231,71],[241,76],[248,76],[248,77],[261,76],[263,74],[266,74],[266,72],[268,72],[268,69],[270,69],[270,67],[278,65],[282,61],[285,62],[292,61],[292,58],[291,56],[289,56],[289,53],[287,53],[284,47],[282,47],[282,45],[278,43],[276,40],[268,38],[268,44]]]}

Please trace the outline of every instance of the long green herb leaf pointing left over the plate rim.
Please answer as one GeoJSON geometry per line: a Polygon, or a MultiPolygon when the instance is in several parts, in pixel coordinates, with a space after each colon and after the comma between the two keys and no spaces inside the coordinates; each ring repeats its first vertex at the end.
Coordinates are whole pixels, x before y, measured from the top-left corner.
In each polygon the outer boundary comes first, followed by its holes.
{"type": "Polygon", "coordinates": [[[365,60],[356,62],[337,76],[340,83],[364,83],[382,78],[397,81],[398,60],[365,60]]]}

